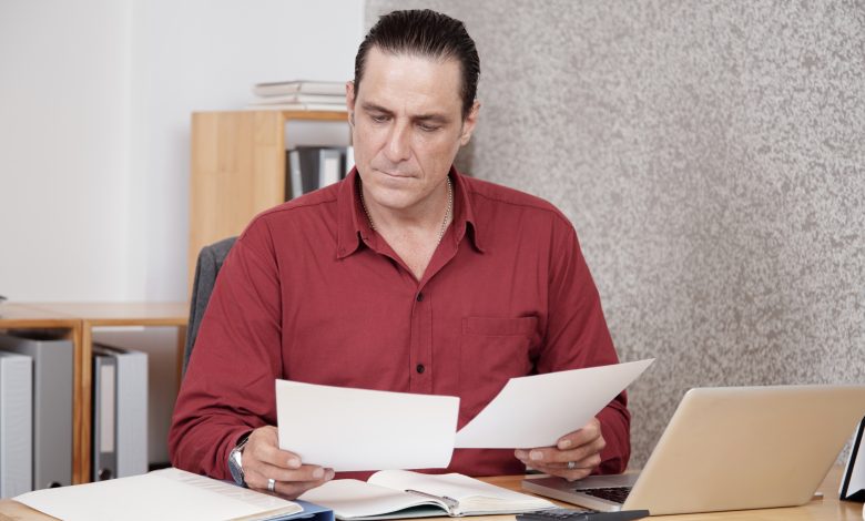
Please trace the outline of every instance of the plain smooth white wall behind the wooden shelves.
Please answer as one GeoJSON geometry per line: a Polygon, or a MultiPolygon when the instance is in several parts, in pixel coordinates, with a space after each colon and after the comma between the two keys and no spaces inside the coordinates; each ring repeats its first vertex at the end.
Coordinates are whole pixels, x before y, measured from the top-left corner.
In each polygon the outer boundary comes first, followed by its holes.
{"type": "Polygon", "coordinates": [[[346,80],[357,0],[0,0],[0,295],[186,298],[190,114],[346,80]]]}

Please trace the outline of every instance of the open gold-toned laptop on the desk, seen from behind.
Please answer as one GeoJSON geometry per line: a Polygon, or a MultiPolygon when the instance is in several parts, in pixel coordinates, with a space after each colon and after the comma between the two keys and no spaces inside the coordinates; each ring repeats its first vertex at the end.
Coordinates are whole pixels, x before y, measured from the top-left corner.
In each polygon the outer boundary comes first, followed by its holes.
{"type": "Polygon", "coordinates": [[[640,473],[527,478],[522,488],[652,515],[808,502],[865,415],[865,386],[689,390],[640,473]],[[618,494],[618,498],[617,498],[618,494]]]}

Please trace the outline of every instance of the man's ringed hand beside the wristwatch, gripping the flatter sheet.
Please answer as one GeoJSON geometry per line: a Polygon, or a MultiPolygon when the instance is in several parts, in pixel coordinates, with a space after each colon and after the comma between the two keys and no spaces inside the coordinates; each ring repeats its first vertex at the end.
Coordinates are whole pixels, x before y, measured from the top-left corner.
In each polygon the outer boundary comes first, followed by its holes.
{"type": "Polygon", "coordinates": [[[252,489],[267,490],[267,480],[276,481],[274,491],[296,499],[307,490],[334,479],[334,470],[303,464],[294,452],[279,449],[276,427],[264,426],[250,435],[243,449],[243,473],[252,489]]]}

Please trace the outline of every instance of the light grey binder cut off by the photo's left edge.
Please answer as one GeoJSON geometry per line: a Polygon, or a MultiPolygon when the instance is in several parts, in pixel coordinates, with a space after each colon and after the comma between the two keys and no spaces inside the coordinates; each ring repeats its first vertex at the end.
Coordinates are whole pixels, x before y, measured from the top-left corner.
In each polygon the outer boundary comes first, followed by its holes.
{"type": "Polygon", "coordinates": [[[0,351],[0,498],[33,486],[33,360],[0,351]]]}

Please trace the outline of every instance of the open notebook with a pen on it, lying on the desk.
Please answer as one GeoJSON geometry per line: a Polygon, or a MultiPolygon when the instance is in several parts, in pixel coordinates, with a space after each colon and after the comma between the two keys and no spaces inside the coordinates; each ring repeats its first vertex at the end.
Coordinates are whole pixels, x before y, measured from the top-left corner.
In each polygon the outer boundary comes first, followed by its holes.
{"type": "Polygon", "coordinates": [[[518,513],[553,508],[540,498],[467,476],[383,470],[369,479],[338,479],[301,496],[334,511],[337,519],[461,517],[518,513]]]}

